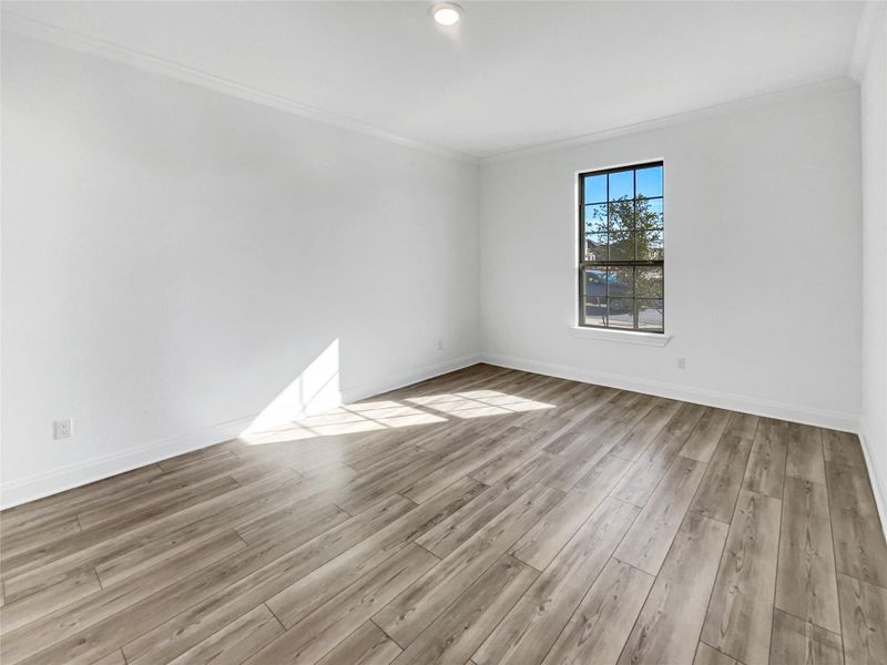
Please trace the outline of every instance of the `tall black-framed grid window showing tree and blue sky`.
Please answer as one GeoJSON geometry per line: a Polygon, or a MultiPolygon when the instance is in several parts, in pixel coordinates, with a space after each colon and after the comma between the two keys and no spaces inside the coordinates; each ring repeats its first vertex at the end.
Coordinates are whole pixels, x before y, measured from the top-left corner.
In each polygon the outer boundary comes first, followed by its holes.
{"type": "Polygon", "coordinates": [[[663,332],[662,163],[579,176],[579,325],[663,332]]]}

